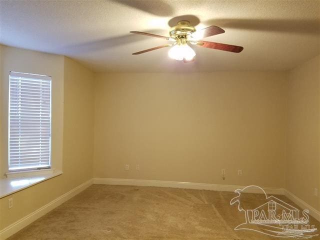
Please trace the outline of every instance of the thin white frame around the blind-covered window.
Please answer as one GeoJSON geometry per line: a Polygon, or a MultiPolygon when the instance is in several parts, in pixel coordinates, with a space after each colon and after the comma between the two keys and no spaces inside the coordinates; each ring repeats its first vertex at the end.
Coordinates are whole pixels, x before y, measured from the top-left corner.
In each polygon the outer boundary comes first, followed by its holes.
{"type": "MultiPolygon", "coordinates": [[[[49,75],[43,75],[43,74],[36,74],[36,73],[27,73],[27,72],[18,72],[18,71],[9,71],[9,75],[8,75],[9,81],[8,81],[8,138],[7,138],[7,149],[8,149],[8,155],[7,155],[7,177],[8,175],[11,173],[12,176],[15,176],[15,172],[17,174],[19,174],[19,172],[22,174],[23,172],[29,174],[32,172],[34,173],[35,171],[45,171],[45,170],[54,170],[54,168],[52,168],[52,77],[49,75]],[[19,75],[21,74],[21,76],[32,76],[34,78],[38,78],[38,79],[45,79],[45,80],[49,80],[50,82],[50,91],[49,91],[49,95],[50,95],[50,108],[49,108],[49,162],[48,162],[48,166],[38,166],[38,167],[29,167],[29,168],[21,168],[21,169],[10,169],[10,78],[11,78],[11,74],[14,73],[15,75],[19,75]]],[[[50,171],[51,172],[51,171],[50,171]]]]}

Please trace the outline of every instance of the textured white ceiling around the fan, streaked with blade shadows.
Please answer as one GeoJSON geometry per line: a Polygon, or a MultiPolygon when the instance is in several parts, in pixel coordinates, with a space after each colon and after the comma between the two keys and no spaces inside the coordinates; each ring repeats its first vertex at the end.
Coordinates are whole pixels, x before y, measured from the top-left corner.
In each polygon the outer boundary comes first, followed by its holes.
{"type": "Polygon", "coordinates": [[[70,56],[95,71],[283,70],[320,53],[320,0],[0,0],[0,43],[70,56]],[[244,50],[195,46],[192,63],[168,58],[168,48],[131,55],[166,40],[130,30],[168,35],[180,15],[225,30],[205,40],[244,50]]]}

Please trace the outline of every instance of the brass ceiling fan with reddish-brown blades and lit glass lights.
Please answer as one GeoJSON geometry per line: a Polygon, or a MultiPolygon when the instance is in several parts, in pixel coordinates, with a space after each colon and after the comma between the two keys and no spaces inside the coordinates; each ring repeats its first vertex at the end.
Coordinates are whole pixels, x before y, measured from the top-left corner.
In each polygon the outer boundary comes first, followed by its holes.
{"type": "Polygon", "coordinates": [[[194,26],[192,26],[190,22],[187,20],[178,21],[177,24],[170,29],[169,37],[147,33],[147,32],[141,32],[141,31],[130,31],[130,32],[135,34],[146,35],[146,36],[164,38],[166,40],[172,41],[171,44],[165,44],[165,45],[145,49],[142,51],[137,51],[132,53],[133,55],[171,46],[170,50],[168,51],[168,55],[170,58],[173,58],[176,60],[183,60],[184,62],[190,62],[194,60],[195,52],[190,47],[189,44],[223,50],[223,51],[231,51],[231,52],[240,52],[243,50],[242,46],[235,46],[235,45],[229,45],[224,43],[200,40],[204,37],[223,33],[224,30],[218,26],[208,26],[201,30],[196,30],[194,26]]]}

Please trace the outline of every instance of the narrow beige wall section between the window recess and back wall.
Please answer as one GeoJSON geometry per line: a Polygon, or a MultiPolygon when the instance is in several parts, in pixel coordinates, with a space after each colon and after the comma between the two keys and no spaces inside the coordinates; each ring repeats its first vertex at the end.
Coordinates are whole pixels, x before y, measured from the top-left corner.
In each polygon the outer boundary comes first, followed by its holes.
{"type": "Polygon", "coordinates": [[[93,176],[93,73],[64,58],[63,172],[78,185],[93,176]]]}

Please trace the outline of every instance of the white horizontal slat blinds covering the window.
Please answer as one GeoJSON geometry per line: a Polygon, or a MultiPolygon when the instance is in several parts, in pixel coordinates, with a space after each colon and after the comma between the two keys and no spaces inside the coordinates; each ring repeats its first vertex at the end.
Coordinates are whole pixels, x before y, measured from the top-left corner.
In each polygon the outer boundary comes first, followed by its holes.
{"type": "Polygon", "coordinates": [[[10,72],[9,170],[50,166],[51,77],[10,72]]]}

